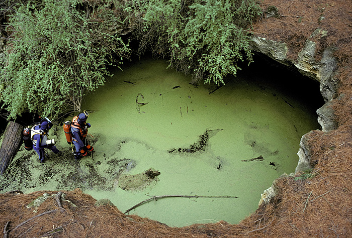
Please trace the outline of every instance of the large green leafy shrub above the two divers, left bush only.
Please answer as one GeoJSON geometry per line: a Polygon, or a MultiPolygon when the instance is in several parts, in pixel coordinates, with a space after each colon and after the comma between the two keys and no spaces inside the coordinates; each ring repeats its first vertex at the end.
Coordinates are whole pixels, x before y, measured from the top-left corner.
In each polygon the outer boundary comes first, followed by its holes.
{"type": "Polygon", "coordinates": [[[107,66],[129,56],[128,45],[115,35],[123,23],[111,3],[80,3],[28,1],[11,16],[0,78],[10,117],[28,110],[51,116],[67,107],[80,110],[82,95],[110,76],[107,66]]]}

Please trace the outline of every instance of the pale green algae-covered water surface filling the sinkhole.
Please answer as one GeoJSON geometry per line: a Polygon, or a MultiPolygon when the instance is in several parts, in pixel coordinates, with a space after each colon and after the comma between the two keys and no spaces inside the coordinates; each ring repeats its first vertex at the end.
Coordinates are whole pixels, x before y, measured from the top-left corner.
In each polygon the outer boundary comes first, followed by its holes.
{"type": "Polygon", "coordinates": [[[34,151],[21,149],[1,180],[3,191],[79,187],[122,212],[153,195],[207,196],[150,200],[129,212],[170,226],[238,223],[254,212],[273,180],[294,172],[301,137],[319,129],[318,107],[253,71],[226,78],[222,87],[194,86],[166,67],[141,60],[116,69],[82,103],[95,152],[75,162],[58,126],[64,156],[49,152],[40,165],[34,151]],[[144,187],[121,188],[123,175],[150,168],[160,174],[144,187]]]}

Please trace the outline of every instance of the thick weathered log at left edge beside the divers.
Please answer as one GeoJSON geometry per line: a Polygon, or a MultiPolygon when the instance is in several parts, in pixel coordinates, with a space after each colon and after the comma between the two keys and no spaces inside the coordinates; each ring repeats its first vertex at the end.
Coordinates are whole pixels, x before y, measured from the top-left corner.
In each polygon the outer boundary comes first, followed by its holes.
{"type": "Polygon", "coordinates": [[[4,174],[10,161],[14,158],[20,148],[22,143],[22,133],[23,126],[15,122],[9,122],[0,148],[0,174],[4,174]]]}

